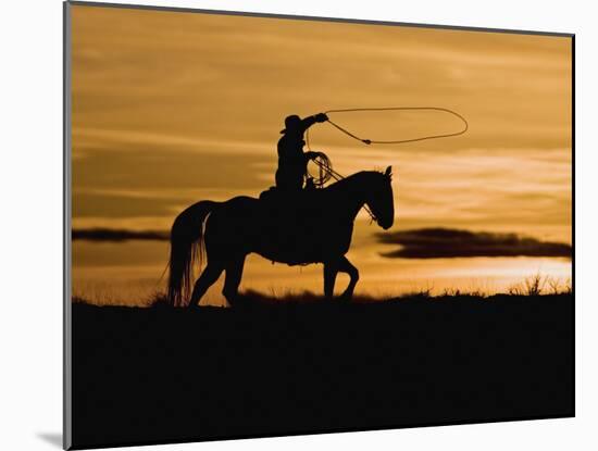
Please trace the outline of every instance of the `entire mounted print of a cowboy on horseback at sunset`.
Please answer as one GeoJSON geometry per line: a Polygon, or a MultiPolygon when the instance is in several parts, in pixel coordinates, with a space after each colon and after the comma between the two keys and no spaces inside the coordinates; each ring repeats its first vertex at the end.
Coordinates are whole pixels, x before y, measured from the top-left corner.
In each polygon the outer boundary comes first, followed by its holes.
{"type": "Polygon", "coordinates": [[[64,446],[574,415],[574,36],[64,3],[64,446]]]}

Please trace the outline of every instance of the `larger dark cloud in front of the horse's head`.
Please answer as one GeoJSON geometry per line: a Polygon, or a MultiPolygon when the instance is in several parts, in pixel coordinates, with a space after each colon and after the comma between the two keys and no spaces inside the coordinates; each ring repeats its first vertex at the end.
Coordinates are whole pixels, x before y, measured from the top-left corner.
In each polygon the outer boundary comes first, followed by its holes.
{"type": "Polygon", "coordinates": [[[494,234],[450,228],[421,228],[376,234],[379,242],[399,249],[383,256],[444,259],[456,256],[562,256],[571,258],[571,246],[540,241],[515,234],[494,234]]]}

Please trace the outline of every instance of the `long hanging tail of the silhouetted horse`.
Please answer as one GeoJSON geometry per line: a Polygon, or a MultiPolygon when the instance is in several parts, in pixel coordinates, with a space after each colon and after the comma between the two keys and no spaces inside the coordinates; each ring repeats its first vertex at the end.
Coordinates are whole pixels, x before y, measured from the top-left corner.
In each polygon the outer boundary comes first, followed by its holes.
{"type": "Polygon", "coordinates": [[[179,306],[189,299],[194,263],[203,260],[203,226],[219,202],[204,200],[187,208],[176,216],[171,229],[169,259],[169,303],[179,306]]]}

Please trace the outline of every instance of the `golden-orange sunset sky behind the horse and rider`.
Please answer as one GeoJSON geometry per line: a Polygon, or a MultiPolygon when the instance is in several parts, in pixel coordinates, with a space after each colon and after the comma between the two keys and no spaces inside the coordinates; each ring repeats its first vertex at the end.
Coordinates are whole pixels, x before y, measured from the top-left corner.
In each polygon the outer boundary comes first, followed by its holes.
{"type": "MultiPolygon", "coordinates": [[[[465,135],[366,147],[316,124],[311,147],[341,174],[393,165],[396,230],[441,226],[571,243],[571,43],[555,36],[74,5],[73,227],[166,230],[197,200],[258,196],[274,183],[288,114],[441,107],[466,117],[465,135]]],[[[433,112],[331,118],[378,140],[461,127],[433,112]]],[[[371,239],[381,229],[362,218],[349,253],[362,272],[358,292],[391,291],[399,273],[409,275],[397,279],[403,290],[440,279],[494,287],[495,276],[571,273],[571,261],[555,259],[387,261],[379,252],[389,249],[371,239]],[[479,275],[481,267],[487,272],[479,275]]],[[[133,285],[145,292],[159,284],[166,258],[166,243],[75,241],[74,290],[105,289],[119,298],[119,289],[133,285]],[[104,288],[89,288],[102,277],[104,288]]],[[[321,285],[321,268],[271,268],[256,256],[246,270],[241,288],[283,289],[299,273],[301,288],[321,285]]]]}

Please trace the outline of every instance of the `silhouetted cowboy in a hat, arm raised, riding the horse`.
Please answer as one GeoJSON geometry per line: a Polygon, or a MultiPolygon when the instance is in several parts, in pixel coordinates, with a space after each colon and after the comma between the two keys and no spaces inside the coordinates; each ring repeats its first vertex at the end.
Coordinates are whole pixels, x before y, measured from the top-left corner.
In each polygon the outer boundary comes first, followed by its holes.
{"type": "Polygon", "coordinates": [[[316,122],[325,122],[328,116],[319,113],[301,120],[296,114],[285,118],[283,137],[278,140],[278,170],[276,171],[276,188],[286,191],[300,191],[303,188],[303,177],[310,159],[315,152],[303,152],[303,134],[316,122]]]}

